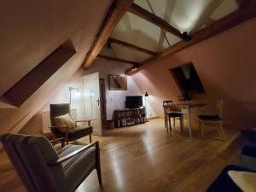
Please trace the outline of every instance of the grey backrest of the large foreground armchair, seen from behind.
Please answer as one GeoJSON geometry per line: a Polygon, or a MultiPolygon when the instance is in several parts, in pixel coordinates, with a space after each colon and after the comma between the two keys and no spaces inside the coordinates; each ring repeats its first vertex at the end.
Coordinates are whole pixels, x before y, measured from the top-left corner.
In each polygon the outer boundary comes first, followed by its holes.
{"type": "Polygon", "coordinates": [[[47,138],[9,133],[2,135],[0,140],[27,191],[62,190],[65,175],[61,164],[47,165],[59,158],[47,138]]]}

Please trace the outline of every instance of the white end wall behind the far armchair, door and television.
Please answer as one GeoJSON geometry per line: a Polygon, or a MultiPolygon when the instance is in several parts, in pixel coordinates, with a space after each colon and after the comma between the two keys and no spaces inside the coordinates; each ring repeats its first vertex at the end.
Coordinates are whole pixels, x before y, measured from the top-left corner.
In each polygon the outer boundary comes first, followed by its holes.
{"type": "MultiPolygon", "coordinates": [[[[23,127],[21,132],[30,134],[40,134],[42,131],[42,112],[49,110],[49,104],[51,103],[67,103],[69,102],[69,91],[68,87],[72,86],[81,90],[81,76],[91,73],[100,73],[100,78],[105,79],[106,86],[106,99],[107,99],[107,119],[112,119],[113,110],[125,108],[125,96],[141,96],[146,90],[140,90],[137,84],[133,81],[130,76],[127,76],[127,90],[108,90],[108,74],[125,75],[125,69],[130,66],[126,64],[106,61],[102,59],[96,59],[93,62],[89,70],[84,71],[82,68],[73,75],[66,83],[60,84],[60,89],[56,90],[54,96],[51,96],[40,111],[32,117],[32,119],[23,127]],[[37,125],[35,127],[35,125],[37,125]]],[[[149,93],[150,97],[150,93],[149,93]]],[[[147,100],[146,100],[147,101],[147,100]]],[[[143,97],[143,105],[145,105],[145,97],[143,97]]],[[[148,116],[154,117],[156,113],[147,101],[147,114],[148,116]]],[[[81,95],[77,95],[76,91],[72,92],[71,108],[77,109],[77,118],[83,118],[83,106],[81,102],[81,95]]]]}

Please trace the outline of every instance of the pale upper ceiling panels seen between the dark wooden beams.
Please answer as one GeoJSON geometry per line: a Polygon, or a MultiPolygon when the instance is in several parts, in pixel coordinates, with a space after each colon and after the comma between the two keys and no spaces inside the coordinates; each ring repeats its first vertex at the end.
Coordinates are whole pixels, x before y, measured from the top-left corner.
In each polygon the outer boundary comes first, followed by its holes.
{"type": "MultiPolygon", "coordinates": [[[[238,9],[236,0],[136,0],[135,3],[151,13],[153,9],[155,15],[180,32],[188,32],[192,36],[201,28],[238,9]]],[[[111,37],[155,52],[160,52],[181,40],[129,12],[119,21],[111,37]]],[[[119,44],[112,44],[111,50],[112,55],[131,61],[141,62],[151,56],[119,44]]]]}

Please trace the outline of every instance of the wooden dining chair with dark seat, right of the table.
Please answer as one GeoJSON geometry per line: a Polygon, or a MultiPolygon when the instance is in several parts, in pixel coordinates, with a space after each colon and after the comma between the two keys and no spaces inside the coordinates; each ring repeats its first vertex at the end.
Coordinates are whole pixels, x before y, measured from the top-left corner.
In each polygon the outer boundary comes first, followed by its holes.
{"type": "Polygon", "coordinates": [[[225,133],[223,128],[223,100],[218,101],[218,114],[207,114],[198,115],[199,118],[199,128],[201,130],[201,136],[204,137],[204,125],[215,125],[217,126],[218,135],[225,140],[225,133]]]}

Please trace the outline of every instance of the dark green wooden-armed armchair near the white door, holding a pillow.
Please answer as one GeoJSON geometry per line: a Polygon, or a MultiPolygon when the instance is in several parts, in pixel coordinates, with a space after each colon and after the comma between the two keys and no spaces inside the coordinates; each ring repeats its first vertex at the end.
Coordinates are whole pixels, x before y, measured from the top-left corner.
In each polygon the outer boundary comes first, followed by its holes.
{"type": "Polygon", "coordinates": [[[55,137],[64,137],[66,143],[75,141],[81,137],[89,136],[91,143],[92,126],[90,125],[90,119],[74,120],[75,127],[68,129],[68,125],[56,125],[55,117],[59,117],[64,114],[71,114],[69,103],[50,104],[49,105],[49,117],[51,126],[49,127],[55,137]],[[87,125],[79,127],[77,123],[85,122],[87,125]]]}

